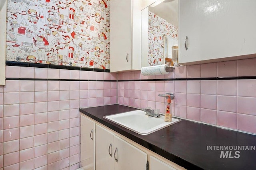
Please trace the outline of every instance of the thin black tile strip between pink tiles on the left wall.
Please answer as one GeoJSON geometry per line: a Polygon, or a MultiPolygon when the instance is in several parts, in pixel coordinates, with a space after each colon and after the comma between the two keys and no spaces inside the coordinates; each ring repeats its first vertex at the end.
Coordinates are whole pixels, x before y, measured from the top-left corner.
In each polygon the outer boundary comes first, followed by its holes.
{"type": "Polygon", "coordinates": [[[31,81],[80,81],[80,82],[116,82],[116,80],[83,80],[83,79],[57,79],[57,78],[5,78],[5,80],[31,80],[31,81]]]}

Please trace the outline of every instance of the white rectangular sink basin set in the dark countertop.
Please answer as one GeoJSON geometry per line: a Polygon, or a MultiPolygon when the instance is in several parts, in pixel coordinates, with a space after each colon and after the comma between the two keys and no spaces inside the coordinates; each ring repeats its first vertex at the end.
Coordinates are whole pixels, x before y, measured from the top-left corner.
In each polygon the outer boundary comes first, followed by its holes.
{"type": "Polygon", "coordinates": [[[148,135],[181,121],[180,119],[172,117],[171,122],[166,122],[164,121],[164,116],[148,116],[146,115],[145,111],[142,110],[134,110],[114,115],[108,115],[104,116],[104,118],[127,129],[130,129],[131,131],[134,131],[140,135],[148,135]]]}

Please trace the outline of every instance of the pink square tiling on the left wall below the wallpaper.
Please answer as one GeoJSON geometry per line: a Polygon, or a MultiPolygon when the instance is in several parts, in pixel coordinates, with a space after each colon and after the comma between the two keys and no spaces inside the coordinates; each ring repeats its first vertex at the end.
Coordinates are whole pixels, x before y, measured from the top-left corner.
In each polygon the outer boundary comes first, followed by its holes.
{"type": "MultiPolygon", "coordinates": [[[[6,66],[6,78],[116,80],[108,72],[6,66]]],[[[0,86],[0,170],[80,166],[79,108],[116,104],[116,82],[6,80],[0,86]]]]}

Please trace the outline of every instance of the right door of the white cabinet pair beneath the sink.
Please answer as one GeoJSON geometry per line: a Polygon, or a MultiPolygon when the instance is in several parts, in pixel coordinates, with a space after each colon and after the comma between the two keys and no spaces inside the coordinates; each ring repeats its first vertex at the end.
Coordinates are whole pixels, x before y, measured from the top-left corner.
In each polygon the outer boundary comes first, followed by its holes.
{"type": "Polygon", "coordinates": [[[146,170],[147,154],[123,139],[114,136],[114,169],[146,170]]]}

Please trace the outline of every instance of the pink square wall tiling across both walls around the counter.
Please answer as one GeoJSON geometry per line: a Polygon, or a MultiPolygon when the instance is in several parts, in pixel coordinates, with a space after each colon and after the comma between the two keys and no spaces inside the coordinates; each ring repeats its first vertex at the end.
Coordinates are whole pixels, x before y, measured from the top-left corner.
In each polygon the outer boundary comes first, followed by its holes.
{"type": "MultiPolygon", "coordinates": [[[[164,76],[139,71],[110,74],[6,66],[7,78],[145,80],[256,76],[256,59],[181,66],[164,76]],[[29,74],[28,74],[29,73],[29,74]]],[[[174,92],[178,117],[256,133],[256,80],[32,81],[6,80],[0,86],[0,169],[79,167],[79,108],[119,104],[160,108],[158,94],[174,92]],[[11,134],[11,135],[10,135],[11,134]]]]}

